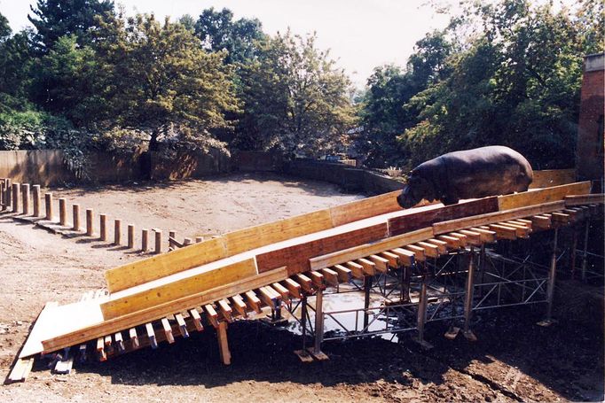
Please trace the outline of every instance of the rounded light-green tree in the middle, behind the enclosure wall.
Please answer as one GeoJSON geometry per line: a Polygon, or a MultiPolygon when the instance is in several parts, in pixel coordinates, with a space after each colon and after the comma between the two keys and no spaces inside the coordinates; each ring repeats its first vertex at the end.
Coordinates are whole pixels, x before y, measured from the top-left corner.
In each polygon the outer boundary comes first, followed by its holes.
{"type": "Polygon", "coordinates": [[[315,41],[315,35],[278,34],[242,68],[240,148],[277,146],[318,156],[346,143],[356,123],[350,81],[315,41]]]}

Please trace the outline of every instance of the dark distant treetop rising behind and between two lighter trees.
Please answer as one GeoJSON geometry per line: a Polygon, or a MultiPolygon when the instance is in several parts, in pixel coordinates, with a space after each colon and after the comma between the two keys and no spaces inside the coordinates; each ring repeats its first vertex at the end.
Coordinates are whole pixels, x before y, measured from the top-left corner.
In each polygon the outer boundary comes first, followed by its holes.
{"type": "Polygon", "coordinates": [[[261,21],[258,19],[233,20],[231,10],[216,12],[214,7],[204,10],[195,23],[195,35],[208,51],[226,50],[225,63],[244,63],[257,53],[256,42],[262,41],[261,21]]]}

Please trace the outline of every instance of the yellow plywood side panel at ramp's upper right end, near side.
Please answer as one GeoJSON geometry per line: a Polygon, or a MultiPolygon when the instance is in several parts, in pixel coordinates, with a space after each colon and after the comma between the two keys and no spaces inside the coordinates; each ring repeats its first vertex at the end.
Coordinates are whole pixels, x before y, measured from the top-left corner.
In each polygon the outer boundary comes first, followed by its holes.
{"type": "Polygon", "coordinates": [[[498,197],[499,211],[513,210],[529,205],[542,205],[562,201],[566,196],[590,193],[590,182],[577,182],[541,190],[523,191],[498,197]]]}

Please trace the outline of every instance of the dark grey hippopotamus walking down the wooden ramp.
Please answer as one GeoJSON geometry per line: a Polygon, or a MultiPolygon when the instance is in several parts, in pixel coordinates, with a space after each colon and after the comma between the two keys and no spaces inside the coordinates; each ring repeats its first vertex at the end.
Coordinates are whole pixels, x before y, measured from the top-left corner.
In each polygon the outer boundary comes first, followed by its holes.
{"type": "Polygon", "coordinates": [[[525,191],[532,180],[530,163],[508,147],[492,145],[454,151],[413,168],[397,203],[409,208],[424,198],[454,205],[462,198],[525,191]]]}

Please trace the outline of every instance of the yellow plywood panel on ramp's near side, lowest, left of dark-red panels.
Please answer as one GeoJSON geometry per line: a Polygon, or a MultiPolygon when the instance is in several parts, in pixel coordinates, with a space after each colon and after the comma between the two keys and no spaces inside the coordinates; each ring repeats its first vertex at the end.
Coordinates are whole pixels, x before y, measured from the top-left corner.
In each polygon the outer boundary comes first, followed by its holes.
{"type": "Polygon", "coordinates": [[[200,292],[210,291],[224,284],[249,279],[255,275],[255,260],[241,260],[144,291],[129,293],[119,298],[110,297],[109,300],[101,304],[101,312],[106,320],[114,319],[124,314],[169,303],[178,298],[186,298],[200,292]]]}

